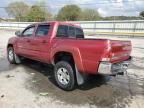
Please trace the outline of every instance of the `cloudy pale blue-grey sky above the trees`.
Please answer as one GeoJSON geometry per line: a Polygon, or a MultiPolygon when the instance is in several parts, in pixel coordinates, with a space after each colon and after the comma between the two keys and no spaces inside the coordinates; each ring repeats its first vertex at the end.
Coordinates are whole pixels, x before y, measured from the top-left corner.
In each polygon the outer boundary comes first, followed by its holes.
{"type": "MultiPolygon", "coordinates": [[[[144,0],[1,0],[0,7],[6,7],[14,1],[23,1],[28,5],[45,1],[46,5],[49,5],[51,13],[54,14],[67,4],[96,9],[102,16],[138,16],[139,12],[144,10],[144,0]]],[[[3,8],[0,8],[0,17],[7,17],[3,8]]]]}

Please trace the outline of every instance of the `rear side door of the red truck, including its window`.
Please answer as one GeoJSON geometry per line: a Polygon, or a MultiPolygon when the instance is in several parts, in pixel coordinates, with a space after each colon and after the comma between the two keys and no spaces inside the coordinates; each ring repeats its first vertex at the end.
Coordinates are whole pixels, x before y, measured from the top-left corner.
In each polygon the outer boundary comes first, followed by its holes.
{"type": "Polygon", "coordinates": [[[35,59],[43,62],[48,61],[49,57],[49,24],[37,25],[35,35],[31,41],[32,50],[35,53],[35,59]]]}

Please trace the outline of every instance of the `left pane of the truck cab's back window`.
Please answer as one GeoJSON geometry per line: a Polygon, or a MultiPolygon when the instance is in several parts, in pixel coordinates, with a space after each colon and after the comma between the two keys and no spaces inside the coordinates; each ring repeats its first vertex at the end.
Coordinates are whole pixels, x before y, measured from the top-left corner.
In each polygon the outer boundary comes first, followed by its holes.
{"type": "Polygon", "coordinates": [[[68,37],[68,26],[59,25],[57,30],[57,37],[68,37]]]}

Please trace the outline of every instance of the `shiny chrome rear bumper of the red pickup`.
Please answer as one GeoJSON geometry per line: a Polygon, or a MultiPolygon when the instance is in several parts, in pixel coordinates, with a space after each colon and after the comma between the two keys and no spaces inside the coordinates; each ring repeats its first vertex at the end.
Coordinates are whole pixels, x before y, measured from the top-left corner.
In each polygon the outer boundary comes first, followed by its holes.
{"type": "Polygon", "coordinates": [[[115,64],[109,62],[100,62],[98,73],[106,75],[115,75],[118,73],[122,73],[128,69],[130,63],[131,63],[131,57],[128,60],[115,64]]]}

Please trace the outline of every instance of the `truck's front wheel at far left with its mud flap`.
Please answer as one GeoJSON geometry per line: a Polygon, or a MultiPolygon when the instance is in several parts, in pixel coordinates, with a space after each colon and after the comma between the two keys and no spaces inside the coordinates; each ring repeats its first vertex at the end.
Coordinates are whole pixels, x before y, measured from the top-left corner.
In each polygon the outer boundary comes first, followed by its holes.
{"type": "Polygon", "coordinates": [[[20,57],[17,54],[15,54],[13,47],[8,47],[7,58],[10,64],[21,63],[20,57]]]}

